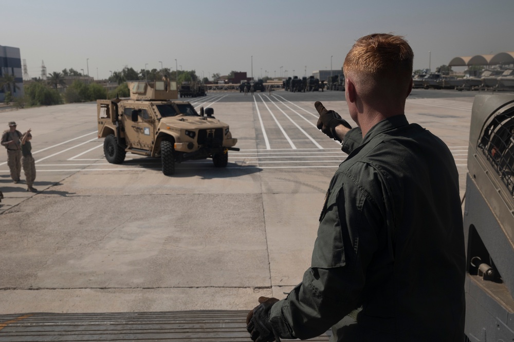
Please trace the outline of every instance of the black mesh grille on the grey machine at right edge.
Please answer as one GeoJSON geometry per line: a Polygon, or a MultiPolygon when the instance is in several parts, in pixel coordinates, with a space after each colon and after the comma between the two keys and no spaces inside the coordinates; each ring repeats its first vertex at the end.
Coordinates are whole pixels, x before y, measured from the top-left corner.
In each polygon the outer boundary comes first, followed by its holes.
{"type": "Polygon", "coordinates": [[[514,109],[493,118],[478,147],[514,197],[514,109]]]}

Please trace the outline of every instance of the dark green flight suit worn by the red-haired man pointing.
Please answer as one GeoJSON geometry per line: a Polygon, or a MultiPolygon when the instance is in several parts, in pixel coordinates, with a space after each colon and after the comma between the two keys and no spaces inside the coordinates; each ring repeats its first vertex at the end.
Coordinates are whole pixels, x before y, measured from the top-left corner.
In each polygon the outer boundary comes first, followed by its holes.
{"type": "Polygon", "coordinates": [[[340,340],[462,342],[464,234],[448,147],[397,115],[364,138],[352,129],[343,151],[311,267],[273,305],[273,328],[310,338],[362,307],[356,324],[338,325],[340,340]]]}

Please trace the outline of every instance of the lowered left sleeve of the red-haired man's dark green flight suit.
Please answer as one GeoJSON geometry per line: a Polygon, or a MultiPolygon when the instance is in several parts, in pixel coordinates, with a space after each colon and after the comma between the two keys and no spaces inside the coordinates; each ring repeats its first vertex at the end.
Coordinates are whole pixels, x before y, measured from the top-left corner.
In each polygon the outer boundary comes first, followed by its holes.
{"type": "Polygon", "coordinates": [[[356,180],[336,176],[320,217],[311,267],[302,283],[271,308],[270,323],[282,338],[319,336],[361,305],[380,214],[356,180]]]}

